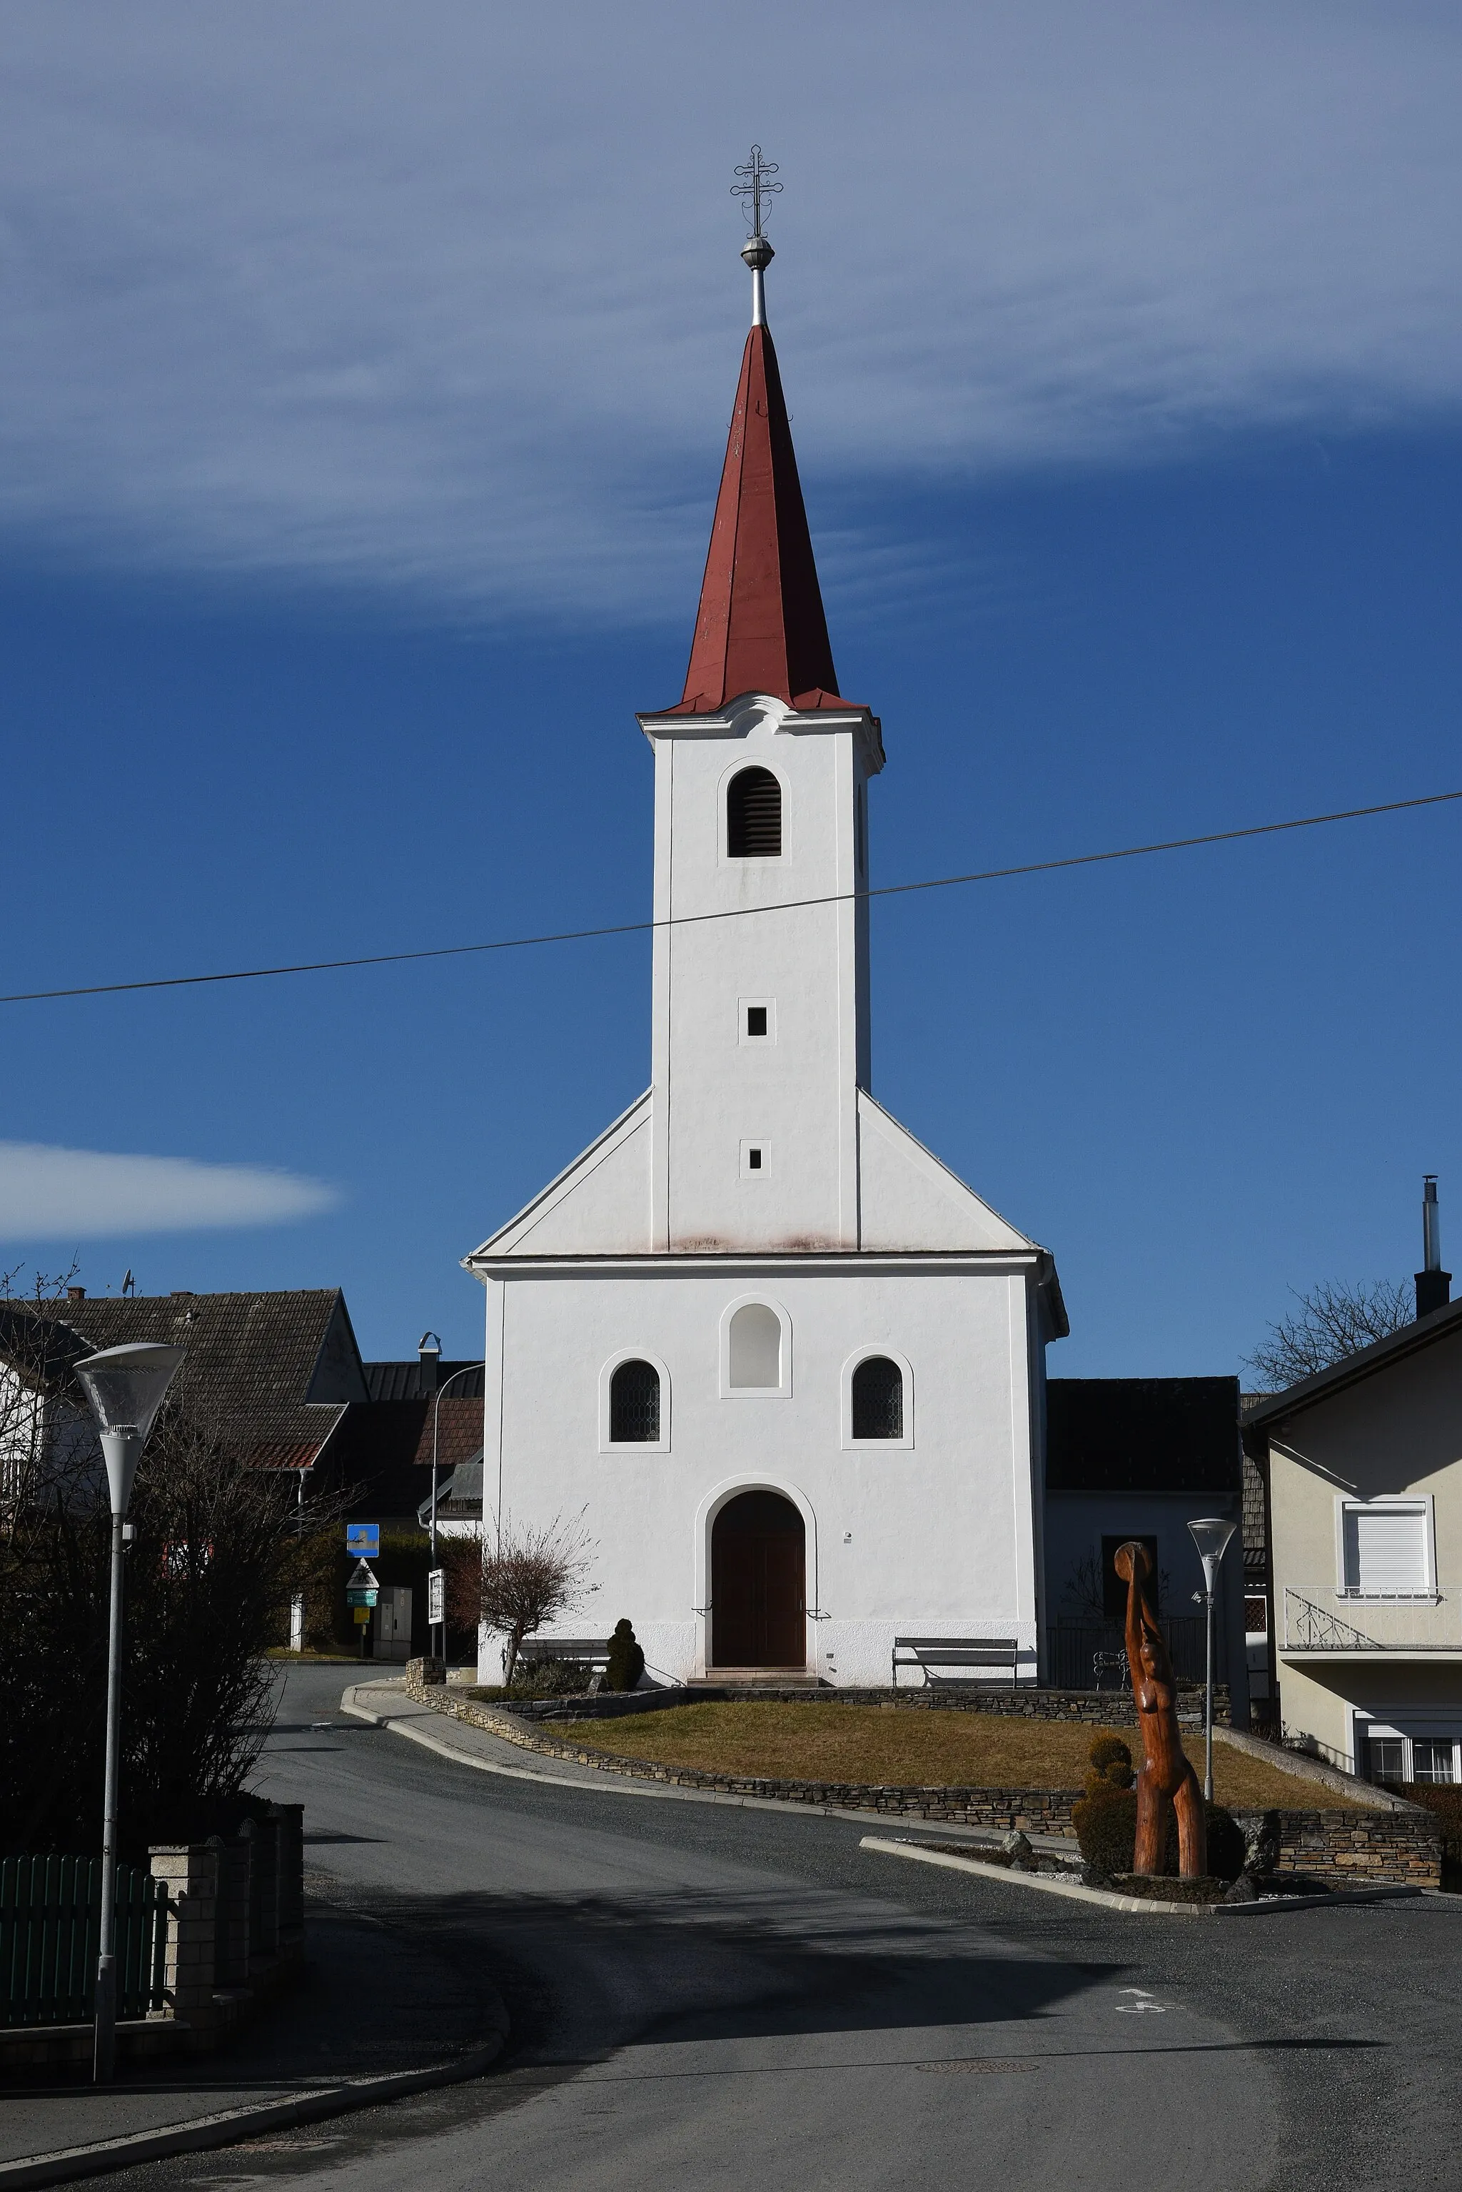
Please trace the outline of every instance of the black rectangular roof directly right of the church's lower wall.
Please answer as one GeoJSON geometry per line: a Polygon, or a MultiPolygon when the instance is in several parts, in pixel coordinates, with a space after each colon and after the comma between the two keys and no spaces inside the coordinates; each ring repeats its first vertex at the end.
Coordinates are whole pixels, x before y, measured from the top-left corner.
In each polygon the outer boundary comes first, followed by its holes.
{"type": "Polygon", "coordinates": [[[1048,1491],[1234,1497],[1238,1486],[1236,1377],[1048,1381],[1048,1491]]]}

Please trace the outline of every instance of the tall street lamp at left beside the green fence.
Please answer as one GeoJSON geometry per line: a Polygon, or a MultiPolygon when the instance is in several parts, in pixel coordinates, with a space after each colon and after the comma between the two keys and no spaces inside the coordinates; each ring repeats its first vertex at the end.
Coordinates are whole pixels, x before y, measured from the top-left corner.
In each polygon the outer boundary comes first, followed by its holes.
{"type": "Polygon", "coordinates": [[[116,1780],[123,1738],[123,1530],[132,1480],[182,1348],[142,1342],[103,1348],[77,1363],[107,1464],[112,1495],[112,1622],[107,1629],[107,1771],[101,1811],[101,1942],[96,1953],[96,2043],[92,2078],[105,2085],[116,2063],[116,1780]]]}

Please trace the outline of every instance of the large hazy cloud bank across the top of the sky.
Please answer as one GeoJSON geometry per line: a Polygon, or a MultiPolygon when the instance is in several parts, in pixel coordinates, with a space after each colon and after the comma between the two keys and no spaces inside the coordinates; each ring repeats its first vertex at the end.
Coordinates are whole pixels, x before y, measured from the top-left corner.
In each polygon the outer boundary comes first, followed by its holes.
{"type": "Polygon", "coordinates": [[[813,498],[1455,412],[1462,18],[1425,0],[4,9],[31,548],[660,616],[783,162],[813,498]]]}

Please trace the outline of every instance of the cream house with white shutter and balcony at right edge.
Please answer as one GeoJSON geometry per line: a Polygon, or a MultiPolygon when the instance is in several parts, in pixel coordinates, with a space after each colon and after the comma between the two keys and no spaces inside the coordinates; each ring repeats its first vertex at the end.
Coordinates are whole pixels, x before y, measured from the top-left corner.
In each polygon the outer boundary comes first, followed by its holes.
{"type": "Polygon", "coordinates": [[[1289,1736],[1372,1780],[1462,1780],[1462,1302],[1260,1401],[1289,1736]]]}

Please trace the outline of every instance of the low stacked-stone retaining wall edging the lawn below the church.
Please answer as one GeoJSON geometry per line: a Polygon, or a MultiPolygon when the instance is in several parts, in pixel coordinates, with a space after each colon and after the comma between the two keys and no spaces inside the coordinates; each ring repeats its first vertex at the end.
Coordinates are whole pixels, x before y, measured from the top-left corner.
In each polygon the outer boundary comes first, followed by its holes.
{"type": "MultiPolygon", "coordinates": [[[[449,1688],[423,1683],[416,1659],[408,1664],[406,1688],[434,1712],[445,1712],[469,1727],[482,1727],[519,1749],[568,1758],[572,1765],[594,1767],[601,1773],[623,1773],[627,1780],[662,1782],[671,1789],[708,1789],[717,1795],[769,1797],[778,1804],[831,1804],[839,1811],[866,1811],[896,1819],[1019,1826],[1028,1835],[1074,1835],[1072,1804],[1078,1802],[1081,1789],[899,1789],[868,1782],[780,1780],[761,1773],[706,1773],[699,1767],[623,1758],[614,1751],[576,1745],[570,1736],[546,1734],[541,1727],[526,1725],[517,1710],[482,1705],[469,1697],[454,1697],[449,1688]]],[[[787,1694],[807,1697],[807,1692],[787,1694]]],[[[833,1694],[846,1699],[850,1692],[833,1694]]],[[[1083,1692],[1065,1694],[1081,1697],[1083,1692]]],[[[1236,1817],[1247,1824],[1249,1819],[1258,1822],[1263,1813],[1236,1813],[1236,1817]]],[[[1436,1819],[1423,1811],[1280,1811],[1278,1817],[1280,1872],[1317,1872],[1335,1879],[1416,1887],[1438,1887],[1442,1881],[1442,1837],[1436,1819]]]]}

